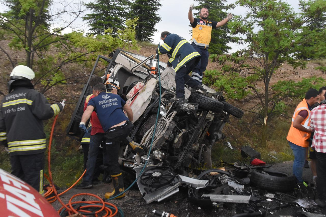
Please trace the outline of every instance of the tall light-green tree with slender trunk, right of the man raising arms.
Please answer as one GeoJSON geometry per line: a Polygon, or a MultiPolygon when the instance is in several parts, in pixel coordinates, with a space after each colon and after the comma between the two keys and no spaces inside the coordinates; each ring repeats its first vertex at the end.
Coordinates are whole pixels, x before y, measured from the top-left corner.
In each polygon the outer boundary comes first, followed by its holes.
{"type": "MultiPolygon", "coordinates": [[[[318,18],[325,16],[326,2],[301,2],[301,13],[295,13],[289,4],[277,0],[238,0],[236,4],[246,7],[247,14],[229,23],[231,34],[244,34],[245,37],[239,37],[238,42],[246,44],[247,47],[232,55],[220,57],[219,61],[225,65],[224,69],[228,72],[235,71],[242,78],[256,77],[256,82],[263,82],[263,90],[255,87],[254,80],[251,84],[244,82],[243,90],[251,89],[259,99],[263,120],[261,142],[265,145],[269,117],[282,107],[283,99],[300,95],[298,91],[294,91],[295,88],[312,87],[312,82],[321,80],[311,78],[301,83],[280,81],[270,85],[275,70],[280,69],[282,63],[287,62],[294,68],[304,68],[306,62],[302,58],[299,59],[302,52],[306,53],[307,49],[319,49],[318,54],[325,52],[325,46],[317,48],[319,45],[325,45],[325,37],[315,37],[316,32],[324,31],[323,27],[314,24],[318,18]],[[305,11],[304,8],[309,10],[305,11]],[[312,47],[302,47],[300,42],[304,37],[310,36],[316,39],[315,43],[311,43],[312,47]],[[233,66],[227,65],[227,61],[232,61],[233,66]]],[[[314,55],[311,55],[310,58],[313,57],[314,55]]],[[[233,76],[237,76],[236,73],[233,76]]],[[[301,89],[301,92],[306,90],[301,89]]]]}

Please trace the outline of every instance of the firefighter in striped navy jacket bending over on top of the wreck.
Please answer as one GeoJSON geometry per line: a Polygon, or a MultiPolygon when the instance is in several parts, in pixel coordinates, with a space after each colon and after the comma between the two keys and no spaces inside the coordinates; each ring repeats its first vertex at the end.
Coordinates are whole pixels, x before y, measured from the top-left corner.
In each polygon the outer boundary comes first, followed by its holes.
{"type": "Polygon", "coordinates": [[[185,38],[170,34],[169,32],[162,32],[161,39],[164,41],[158,49],[158,54],[168,54],[168,66],[173,66],[175,71],[175,101],[178,103],[185,102],[185,84],[191,87],[191,92],[198,89],[206,91],[201,84],[191,78],[188,74],[193,70],[200,60],[200,54],[185,40],[185,38]]]}

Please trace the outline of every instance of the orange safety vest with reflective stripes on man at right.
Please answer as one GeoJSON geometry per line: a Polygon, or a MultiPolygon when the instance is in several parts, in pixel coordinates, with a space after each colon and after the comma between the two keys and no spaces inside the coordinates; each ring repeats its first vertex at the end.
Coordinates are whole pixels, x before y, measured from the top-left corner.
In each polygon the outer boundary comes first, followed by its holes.
{"type": "Polygon", "coordinates": [[[304,132],[304,131],[301,131],[301,130],[293,127],[294,119],[298,116],[299,112],[302,110],[306,110],[308,112],[308,116],[301,122],[301,125],[307,129],[310,128],[310,110],[308,108],[308,104],[307,104],[306,100],[304,99],[302,102],[299,103],[299,105],[297,106],[297,108],[295,109],[295,111],[293,113],[292,123],[291,123],[291,127],[289,129],[287,140],[296,145],[299,145],[302,147],[308,147],[309,146],[308,139],[310,138],[311,133],[304,132]]]}

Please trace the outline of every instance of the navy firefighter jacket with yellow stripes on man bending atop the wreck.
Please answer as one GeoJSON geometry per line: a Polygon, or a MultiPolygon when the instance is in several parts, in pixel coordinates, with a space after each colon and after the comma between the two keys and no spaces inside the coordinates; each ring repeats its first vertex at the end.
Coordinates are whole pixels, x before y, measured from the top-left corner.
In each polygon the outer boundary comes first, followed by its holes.
{"type": "Polygon", "coordinates": [[[172,64],[175,72],[194,58],[197,58],[196,65],[200,60],[200,54],[195,48],[193,48],[187,40],[177,34],[168,34],[164,39],[164,44],[157,49],[157,53],[170,54],[169,62],[172,64]]]}

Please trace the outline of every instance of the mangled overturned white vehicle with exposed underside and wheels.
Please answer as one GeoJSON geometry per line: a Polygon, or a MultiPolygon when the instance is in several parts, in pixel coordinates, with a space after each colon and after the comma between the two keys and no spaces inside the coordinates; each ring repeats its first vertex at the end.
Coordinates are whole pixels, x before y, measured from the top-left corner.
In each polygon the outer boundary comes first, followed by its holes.
{"type": "MultiPolygon", "coordinates": [[[[122,141],[119,163],[126,176],[133,175],[130,179],[134,180],[135,173],[140,173],[148,160],[137,181],[147,203],[176,193],[178,185],[184,183],[182,176],[177,174],[185,175],[189,165],[211,168],[212,146],[222,138],[222,129],[229,116],[241,118],[243,115],[240,109],[225,102],[220,92],[206,86],[206,92],[191,92],[185,87],[187,102],[173,102],[175,72],[160,62],[158,74],[152,67],[154,61],[153,56],[143,57],[118,49],[112,58],[98,56],[90,75],[91,78],[99,62],[106,63],[103,83],[108,88],[117,88],[118,94],[132,108],[134,127],[130,139],[146,150],[146,154],[137,155],[122,141]],[[151,153],[148,153],[150,147],[151,153]]],[[[78,126],[85,99],[92,93],[89,80],[67,129],[67,134],[75,138],[83,134],[78,126]]]]}

